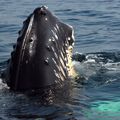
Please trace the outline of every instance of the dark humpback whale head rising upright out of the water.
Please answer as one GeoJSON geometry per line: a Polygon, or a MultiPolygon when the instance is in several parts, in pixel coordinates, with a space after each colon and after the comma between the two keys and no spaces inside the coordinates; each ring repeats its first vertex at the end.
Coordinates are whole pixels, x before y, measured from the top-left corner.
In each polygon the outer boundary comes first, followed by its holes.
{"type": "Polygon", "coordinates": [[[23,91],[62,85],[69,77],[73,34],[73,28],[47,7],[36,8],[23,22],[8,61],[5,81],[10,89],[23,91]]]}

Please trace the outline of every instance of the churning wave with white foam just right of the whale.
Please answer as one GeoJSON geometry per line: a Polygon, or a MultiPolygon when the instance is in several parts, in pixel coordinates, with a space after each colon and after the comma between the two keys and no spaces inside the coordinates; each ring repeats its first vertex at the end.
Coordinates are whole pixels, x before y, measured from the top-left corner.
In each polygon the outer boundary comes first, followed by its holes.
{"type": "Polygon", "coordinates": [[[82,85],[98,87],[119,81],[120,52],[75,53],[72,59],[82,85]]]}

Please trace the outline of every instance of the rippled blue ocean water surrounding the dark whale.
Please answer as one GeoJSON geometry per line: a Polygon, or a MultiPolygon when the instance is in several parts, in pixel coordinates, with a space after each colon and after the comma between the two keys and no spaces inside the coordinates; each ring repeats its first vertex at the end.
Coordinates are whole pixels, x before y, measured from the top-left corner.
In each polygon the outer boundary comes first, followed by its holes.
{"type": "Polygon", "coordinates": [[[0,120],[120,120],[119,0],[0,0],[0,73],[22,22],[41,5],[73,26],[79,78],[49,105],[41,94],[12,92],[0,79],[0,120]]]}

